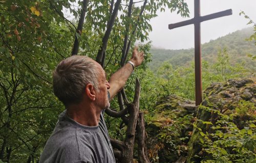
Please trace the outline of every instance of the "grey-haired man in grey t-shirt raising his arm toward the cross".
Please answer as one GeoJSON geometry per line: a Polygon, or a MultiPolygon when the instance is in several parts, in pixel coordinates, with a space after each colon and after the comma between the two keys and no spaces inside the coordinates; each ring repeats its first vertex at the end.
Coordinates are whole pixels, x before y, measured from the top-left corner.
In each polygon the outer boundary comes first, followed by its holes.
{"type": "Polygon", "coordinates": [[[39,162],[115,162],[103,112],[143,59],[144,52],[135,48],[109,82],[102,67],[86,56],[61,61],[53,72],[53,91],[66,111],[59,115],[39,162]]]}

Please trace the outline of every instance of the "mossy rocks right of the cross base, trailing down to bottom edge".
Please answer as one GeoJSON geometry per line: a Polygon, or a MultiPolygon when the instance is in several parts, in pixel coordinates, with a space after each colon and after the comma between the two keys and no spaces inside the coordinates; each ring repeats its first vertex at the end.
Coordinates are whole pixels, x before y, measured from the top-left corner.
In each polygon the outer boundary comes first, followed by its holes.
{"type": "MultiPolygon", "coordinates": [[[[230,79],[226,83],[214,83],[204,91],[205,99],[202,102],[203,106],[218,110],[221,114],[229,115],[236,112],[236,108],[241,101],[250,101],[252,104],[251,113],[241,114],[234,117],[233,123],[238,128],[243,128],[248,120],[255,120],[255,105],[256,105],[256,85],[250,79],[234,80],[230,79]],[[246,118],[244,117],[246,116],[246,118]]],[[[207,110],[199,109],[197,114],[196,125],[202,129],[203,132],[211,133],[210,125],[203,124],[202,121],[208,121],[215,124],[218,120],[218,114],[216,112],[209,112],[207,110]]],[[[200,145],[199,130],[194,128],[193,134],[189,140],[189,153],[187,162],[200,162],[204,158],[202,147],[200,145]]]]}

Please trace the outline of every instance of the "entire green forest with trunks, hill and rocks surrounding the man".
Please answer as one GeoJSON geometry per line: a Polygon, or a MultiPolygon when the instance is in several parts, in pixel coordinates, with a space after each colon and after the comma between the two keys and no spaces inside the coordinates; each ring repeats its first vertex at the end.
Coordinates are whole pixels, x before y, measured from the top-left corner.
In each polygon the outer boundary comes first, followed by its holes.
{"type": "Polygon", "coordinates": [[[157,11],[187,17],[184,0],[0,1],[0,163],[39,162],[65,106],[52,72],[72,55],[108,75],[138,44],[145,53],[105,111],[116,162],[255,162],[256,23],[202,44],[203,102],[194,49],[152,47],[157,11]],[[69,13],[69,14],[67,14],[69,13]]]}

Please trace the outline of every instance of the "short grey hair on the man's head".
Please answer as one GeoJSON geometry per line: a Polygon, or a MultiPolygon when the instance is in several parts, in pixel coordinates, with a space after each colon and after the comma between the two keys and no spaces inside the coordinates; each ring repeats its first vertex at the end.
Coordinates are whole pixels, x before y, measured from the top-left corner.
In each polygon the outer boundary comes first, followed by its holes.
{"type": "Polygon", "coordinates": [[[66,106],[79,103],[86,85],[98,90],[98,70],[92,59],[72,56],[61,61],[53,72],[53,92],[66,106]]]}

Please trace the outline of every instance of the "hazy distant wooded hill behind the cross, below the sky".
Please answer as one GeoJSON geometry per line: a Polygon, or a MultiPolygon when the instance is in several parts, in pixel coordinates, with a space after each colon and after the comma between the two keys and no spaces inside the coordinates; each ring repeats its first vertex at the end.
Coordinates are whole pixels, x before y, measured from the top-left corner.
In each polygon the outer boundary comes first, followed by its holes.
{"type": "MultiPolygon", "coordinates": [[[[253,34],[252,28],[247,28],[230,33],[216,40],[211,40],[202,44],[202,59],[213,63],[218,51],[227,48],[229,61],[231,64],[245,62],[246,66],[256,70],[256,61],[252,61],[247,57],[248,54],[256,55],[256,46],[254,42],[245,41],[253,34]]],[[[164,61],[170,62],[173,66],[186,66],[191,61],[194,61],[194,48],[167,50],[152,48],[152,62],[148,65],[155,72],[164,61]]]]}

